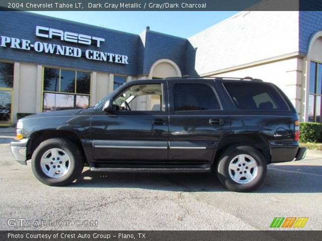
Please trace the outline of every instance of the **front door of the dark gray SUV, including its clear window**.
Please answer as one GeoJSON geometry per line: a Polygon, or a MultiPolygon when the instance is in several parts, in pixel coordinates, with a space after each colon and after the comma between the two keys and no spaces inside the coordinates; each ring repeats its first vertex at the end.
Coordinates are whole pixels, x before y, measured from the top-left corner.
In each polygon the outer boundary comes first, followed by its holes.
{"type": "Polygon", "coordinates": [[[115,111],[107,113],[99,110],[92,116],[94,160],[167,161],[169,132],[167,82],[150,80],[127,83],[115,93],[112,101],[117,107],[115,111]]]}

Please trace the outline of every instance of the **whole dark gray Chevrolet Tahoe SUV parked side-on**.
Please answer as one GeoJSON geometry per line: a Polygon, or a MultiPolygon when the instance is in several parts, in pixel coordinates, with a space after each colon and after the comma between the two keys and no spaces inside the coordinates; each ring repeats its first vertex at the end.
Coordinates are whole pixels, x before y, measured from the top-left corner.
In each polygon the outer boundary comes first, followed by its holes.
{"type": "MultiPolygon", "coordinates": [[[[131,81],[95,106],[20,119],[11,143],[43,183],[71,183],[85,164],[103,172],[210,172],[252,191],[267,165],[301,160],[295,108],[274,84],[252,78],[131,81]]],[[[276,184],[278,185],[278,183],[276,184]]]]}

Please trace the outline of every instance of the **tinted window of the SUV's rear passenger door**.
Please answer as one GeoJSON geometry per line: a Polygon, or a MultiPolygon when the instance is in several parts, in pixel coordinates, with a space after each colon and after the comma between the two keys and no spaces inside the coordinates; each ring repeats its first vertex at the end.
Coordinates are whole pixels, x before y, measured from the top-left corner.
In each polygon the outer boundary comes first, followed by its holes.
{"type": "Polygon", "coordinates": [[[220,109],[214,90],[206,84],[177,83],[174,86],[175,110],[220,109]]]}

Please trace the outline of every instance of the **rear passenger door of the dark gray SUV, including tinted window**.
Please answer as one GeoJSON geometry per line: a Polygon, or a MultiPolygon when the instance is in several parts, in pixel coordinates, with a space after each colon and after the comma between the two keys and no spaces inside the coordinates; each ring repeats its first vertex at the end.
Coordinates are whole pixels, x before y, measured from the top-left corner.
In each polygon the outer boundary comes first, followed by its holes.
{"type": "Polygon", "coordinates": [[[209,163],[230,117],[213,79],[169,80],[169,160],[209,163]],[[202,81],[202,82],[201,82],[202,81]]]}

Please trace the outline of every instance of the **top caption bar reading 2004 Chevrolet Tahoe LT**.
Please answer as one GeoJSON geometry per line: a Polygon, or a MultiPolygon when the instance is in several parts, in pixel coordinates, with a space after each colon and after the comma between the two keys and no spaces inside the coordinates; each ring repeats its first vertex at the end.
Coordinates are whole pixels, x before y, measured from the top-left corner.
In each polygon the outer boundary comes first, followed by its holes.
{"type": "Polygon", "coordinates": [[[320,0],[8,0],[1,11],[322,11],[320,0]]]}

